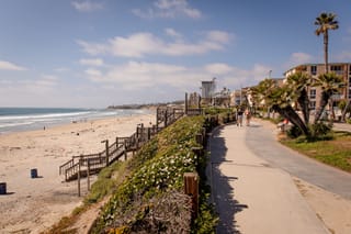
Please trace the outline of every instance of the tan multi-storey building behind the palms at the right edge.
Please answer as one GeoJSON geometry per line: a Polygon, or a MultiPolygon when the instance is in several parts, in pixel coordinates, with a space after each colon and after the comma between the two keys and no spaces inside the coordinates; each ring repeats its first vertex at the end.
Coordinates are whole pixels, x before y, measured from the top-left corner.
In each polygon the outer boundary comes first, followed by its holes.
{"type": "MultiPolygon", "coordinates": [[[[338,103],[340,100],[350,101],[351,99],[351,64],[350,63],[331,63],[328,64],[329,71],[336,73],[343,79],[344,87],[340,88],[339,93],[332,96],[332,108],[337,116],[341,116],[341,111],[338,109],[338,103]]],[[[306,73],[312,77],[318,77],[326,71],[325,64],[303,64],[293,67],[284,73],[285,78],[297,71],[306,73]]],[[[310,110],[315,111],[318,108],[321,97],[321,90],[318,87],[308,88],[308,97],[310,100],[310,110]]],[[[327,110],[331,110],[327,107],[327,110]]]]}

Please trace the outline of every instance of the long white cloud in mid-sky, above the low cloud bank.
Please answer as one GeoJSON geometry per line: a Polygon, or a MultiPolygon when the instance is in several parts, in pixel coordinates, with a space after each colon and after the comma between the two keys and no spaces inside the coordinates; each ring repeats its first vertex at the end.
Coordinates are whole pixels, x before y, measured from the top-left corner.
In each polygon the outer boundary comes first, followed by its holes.
{"type": "Polygon", "coordinates": [[[205,38],[196,43],[185,43],[179,40],[181,34],[167,29],[166,33],[176,38],[166,42],[151,33],[136,33],[128,37],[116,36],[104,44],[77,41],[83,52],[90,55],[111,54],[117,57],[136,57],[145,55],[202,55],[212,51],[224,49],[224,45],[230,42],[230,34],[224,31],[211,31],[205,33],[205,38]]]}

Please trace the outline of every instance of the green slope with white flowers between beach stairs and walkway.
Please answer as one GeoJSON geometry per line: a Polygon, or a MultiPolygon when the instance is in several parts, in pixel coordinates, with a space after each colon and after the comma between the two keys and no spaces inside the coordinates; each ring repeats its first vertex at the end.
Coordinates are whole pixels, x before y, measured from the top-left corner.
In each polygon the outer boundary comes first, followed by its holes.
{"type": "Polygon", "coordinates": [[[182,192],[183,174],[205,165],[205,157],[196,158],[192,152],[200,146],[195,135],[204,124],[203,116],[183,118],[144,145],[128,161],[131,176],[103,208],[91,232],[214,233],[216,218],[204,187],[193,224],[191,198],[182,192]]]}

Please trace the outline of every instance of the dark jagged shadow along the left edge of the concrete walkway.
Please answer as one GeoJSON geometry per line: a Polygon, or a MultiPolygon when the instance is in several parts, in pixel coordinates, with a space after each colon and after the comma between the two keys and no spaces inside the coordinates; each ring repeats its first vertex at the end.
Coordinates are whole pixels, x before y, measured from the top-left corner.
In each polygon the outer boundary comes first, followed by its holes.
{"type": "Polygon", "coordinates": [[[240,234],[236,222],[236,214],[245,209],[247,204],[241,204],[235,199],[235,188],[230,186],[233,181],[240,178],[235,176],[225,176],[220,171],[220,165],[231,164],[231,160],[225,158],[228,148],[225,145],[225,138],[220,137],[223,127],[218,127],[211,138],[211,178],[212,178],[212,201],[215,204],[219,216],[219,223],[216,230],[218,234],[240,234]]]}

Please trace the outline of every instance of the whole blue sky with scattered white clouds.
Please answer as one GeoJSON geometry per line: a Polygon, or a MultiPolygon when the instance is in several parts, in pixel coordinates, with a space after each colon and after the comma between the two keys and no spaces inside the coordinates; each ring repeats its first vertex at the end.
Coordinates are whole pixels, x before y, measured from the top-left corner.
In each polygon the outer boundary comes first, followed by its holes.
{"type": "Polygon", "coordinates": [[[329,60],[351,59],[344,0],[0,0],[0,107],[105,108],[230,90],[322,63],[314,34],[338,15],[329,60]]]}

